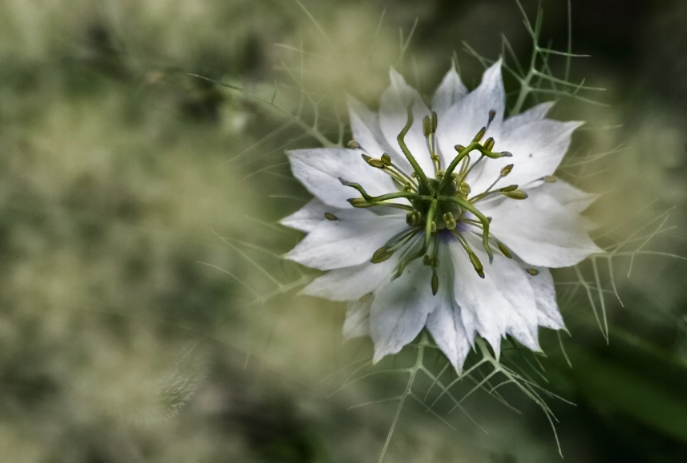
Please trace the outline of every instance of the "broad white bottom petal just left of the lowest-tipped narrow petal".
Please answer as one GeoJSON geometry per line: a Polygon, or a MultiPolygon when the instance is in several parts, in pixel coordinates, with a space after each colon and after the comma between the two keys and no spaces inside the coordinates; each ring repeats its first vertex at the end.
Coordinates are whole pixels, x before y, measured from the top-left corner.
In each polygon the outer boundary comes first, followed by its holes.
{"type": "Polygon", "coordinates": [[[415,339],[438,304],[431,293],[431,269],[416,259],[403,275],[379,287],[370,308],[373,362],[395,354],[415,339]]]}

